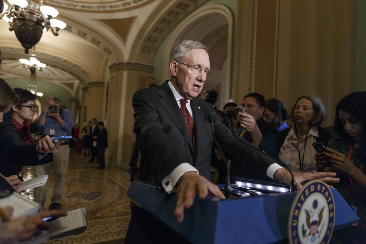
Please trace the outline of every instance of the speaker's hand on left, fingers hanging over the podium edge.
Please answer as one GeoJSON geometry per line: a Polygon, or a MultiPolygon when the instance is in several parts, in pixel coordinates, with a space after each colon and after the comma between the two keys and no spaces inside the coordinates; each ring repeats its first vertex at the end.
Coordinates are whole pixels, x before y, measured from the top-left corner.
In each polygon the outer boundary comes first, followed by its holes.
{"type": "Polygon", "coordinates": [[[174,211],[178,222],[183,221],[184,208],[190,208],[193,205],[196,193],[198,193],[200,199],[205,199],[209,193],[225,199],[224,194],[217,185],[212,184],[195,171],[188,171],[178,181],[177,205],[174,211]]]}

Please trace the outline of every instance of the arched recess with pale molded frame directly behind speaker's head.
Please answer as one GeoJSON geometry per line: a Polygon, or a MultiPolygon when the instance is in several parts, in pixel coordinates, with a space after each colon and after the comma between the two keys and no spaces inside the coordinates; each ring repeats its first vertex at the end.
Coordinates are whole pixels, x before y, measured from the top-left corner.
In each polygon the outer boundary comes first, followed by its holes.
{"type": "Polygon", "coordinates": [[[219,103],[222,108],[231,98],[232,82],[232,43],[234,35],[234,16],[222,4],[206,5],[185,19],[169,36],[164,47],[163,74],[170,77],[170,50],[180,40],[197,40],[208,48],[210,67],[214,75],[206,80],[204,89],[219,90],[219,103]],[[213,25],[212,23],[215,23],[213,25]]]}

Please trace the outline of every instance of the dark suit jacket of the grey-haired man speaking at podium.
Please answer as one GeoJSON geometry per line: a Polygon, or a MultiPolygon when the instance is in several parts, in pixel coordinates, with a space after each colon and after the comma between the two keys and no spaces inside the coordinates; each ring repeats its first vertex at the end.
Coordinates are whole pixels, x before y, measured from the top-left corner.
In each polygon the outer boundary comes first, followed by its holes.
{"type": "MultiPolygon", "coordinates": [[[[224,154],[251,173],[253,178],[266,179],[266,169],[273,159],[260,154],[246,140],[240,142],[221,123],[213,108],[205,101],[191,100],[196,129],[195,148],[192,147],[186,123],[182,117],[168,81],[161,86],[138,90],[133,98],[138,146],[142,154],[139,180],[156,182],[170,174],[179,164],[190,163],[199,174],[210,179],[210,159],[213,137],[208,115],[214,115],[214,135],[224,154]]],[[[241,138],[240,138],[241,139],[241,138]]]]}

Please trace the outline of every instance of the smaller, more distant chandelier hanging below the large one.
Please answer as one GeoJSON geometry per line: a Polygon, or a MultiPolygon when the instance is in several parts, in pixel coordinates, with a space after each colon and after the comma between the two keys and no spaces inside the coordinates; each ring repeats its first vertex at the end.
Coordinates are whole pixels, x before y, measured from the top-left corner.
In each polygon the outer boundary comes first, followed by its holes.
{"type": "Polygon", "coordinates": [[[33,51],[31,57],[28,59],[19,59],[19,62],[23,64],[23,67],[30,70],[30,80],[27,87],[31,93],[36,94],[37,96],[43,96],[42,92],[38,92],[37,88],[37,75],[36,71],[42,71],[42,68],[46,67],[46,64],[41,63],[40,60],[36,58],[36,52],[33,51]]]}

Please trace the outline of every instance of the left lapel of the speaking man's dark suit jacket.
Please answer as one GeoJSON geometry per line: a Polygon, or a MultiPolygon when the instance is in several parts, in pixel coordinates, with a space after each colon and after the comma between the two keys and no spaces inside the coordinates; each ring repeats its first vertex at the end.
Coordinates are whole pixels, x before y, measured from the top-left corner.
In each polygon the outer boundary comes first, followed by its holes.
{"type": "MultiPolygon", "coordinates": [[[[160,86],[158,91],[160,97],[160,103],[167,111],[172,121],[178,127],[184,138],[186,138],[191,150],[194,153],[192,140],[190,135],[188,134],[186,122],[184,122],[182,113],[180,112],[180,108],[178,107],[177,101],[173,95],[173,92],[169,88],[168,82],[166,81],[163,85],[160,86]]],[[[193,118],[195,119],[195,118],[193,118]]]]}

